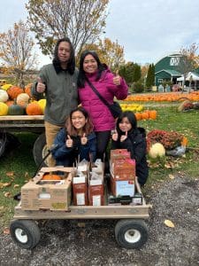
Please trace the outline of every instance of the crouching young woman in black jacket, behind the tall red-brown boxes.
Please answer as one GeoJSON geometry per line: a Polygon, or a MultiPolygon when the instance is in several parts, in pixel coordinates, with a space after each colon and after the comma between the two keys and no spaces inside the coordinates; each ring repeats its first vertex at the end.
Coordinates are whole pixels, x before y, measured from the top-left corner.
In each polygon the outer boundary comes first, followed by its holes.
{"type": "Polygon", "coordinates": [[[146,159],[147,143],[145,129],[137,128],[137,121],[133,112],[126,111],[119,116],[116,131],[112,134],[111,150],[127,149],[136,163],[136,176],[143,185],[149,176],[146,159]]]}

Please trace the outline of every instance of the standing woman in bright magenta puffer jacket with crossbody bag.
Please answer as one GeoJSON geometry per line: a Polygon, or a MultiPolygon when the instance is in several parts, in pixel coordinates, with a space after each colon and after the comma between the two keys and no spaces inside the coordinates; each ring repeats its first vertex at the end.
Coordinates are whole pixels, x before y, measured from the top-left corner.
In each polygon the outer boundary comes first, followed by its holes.
{"type": "Polygon", "coordinates": [[[95,51],[84,51],[80,55],[78,75],[78,93],[81,105],[90,114],[96,132],[96,158],[103,160],[103,155],[111,138],[111,130],[115,128],[115,120],[108,106],[105,106],[96,93],[91,89],[91,82],[96,90],[109,103],[113,98],[127,97],[126,82],[117,74],[101,63],[95,51]]]}

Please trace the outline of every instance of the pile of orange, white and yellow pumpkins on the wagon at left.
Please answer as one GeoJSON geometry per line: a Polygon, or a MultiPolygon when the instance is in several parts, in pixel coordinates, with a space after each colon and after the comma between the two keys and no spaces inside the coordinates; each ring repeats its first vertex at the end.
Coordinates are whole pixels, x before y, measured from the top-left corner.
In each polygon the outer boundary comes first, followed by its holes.
{"type": "Polygon", "coordinates": [[[39,101],[31,97],[32,83],[23,90],[18,86],[5,84],[0,89],[0,115],[42,115],[46,99],[39,101]]]}

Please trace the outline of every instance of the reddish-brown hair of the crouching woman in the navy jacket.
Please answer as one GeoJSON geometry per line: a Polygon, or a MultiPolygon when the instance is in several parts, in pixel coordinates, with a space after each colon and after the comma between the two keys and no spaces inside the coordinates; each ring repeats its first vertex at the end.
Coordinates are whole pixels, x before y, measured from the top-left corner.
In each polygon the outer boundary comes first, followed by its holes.
{"type": "Polygon", "coordinates": [[[88,112],[81,106],[73,109],[71,111],[71,113],[69,114],[69,117],[66,119],[65,128],[66,128],[67,133],[70,136],[77,136],[78,135],[77,129],[75,129],[73,127],[73,123],[72,123],[72,115],[74,112],[82,113],[84,115],[84,117],[87,119],[87,122],[85,123],[85,125],[82,129],[82,134],[85,133],[86,136],[88,136],[88,134],[90,134],[93,131],[93,123],[90,120],[88,112]]]}

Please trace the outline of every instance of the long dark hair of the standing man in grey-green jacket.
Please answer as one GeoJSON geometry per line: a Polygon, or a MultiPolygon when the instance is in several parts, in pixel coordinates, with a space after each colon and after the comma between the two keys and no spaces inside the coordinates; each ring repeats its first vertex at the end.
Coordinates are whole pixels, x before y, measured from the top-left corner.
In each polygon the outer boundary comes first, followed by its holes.
{"type": "Polygon", "coordinates": [[[61,67],[60,66],[60,61],[58,59],[58,45],[62,42],[66,42],[66,43],[69,43],[70,44],[70,48],[71,48],[71,52],[70,52],[70,59],[69,61],[67,62],[67,70],[70,74],[73,74],[74,73],[74,70],[75,70],[75,57],[74,57],[74,49],[73,49],[73,44],[71,43],[71,40],[68,38],[68,37],[65,37],[65,38],[62,38],[62,39],[59,39],[56,43],[56,46],[55,46],[55,51],[54,51],[54,58],[52,60],[53,64],[55,66],[58,66],[58,67],[61,67]]]}

